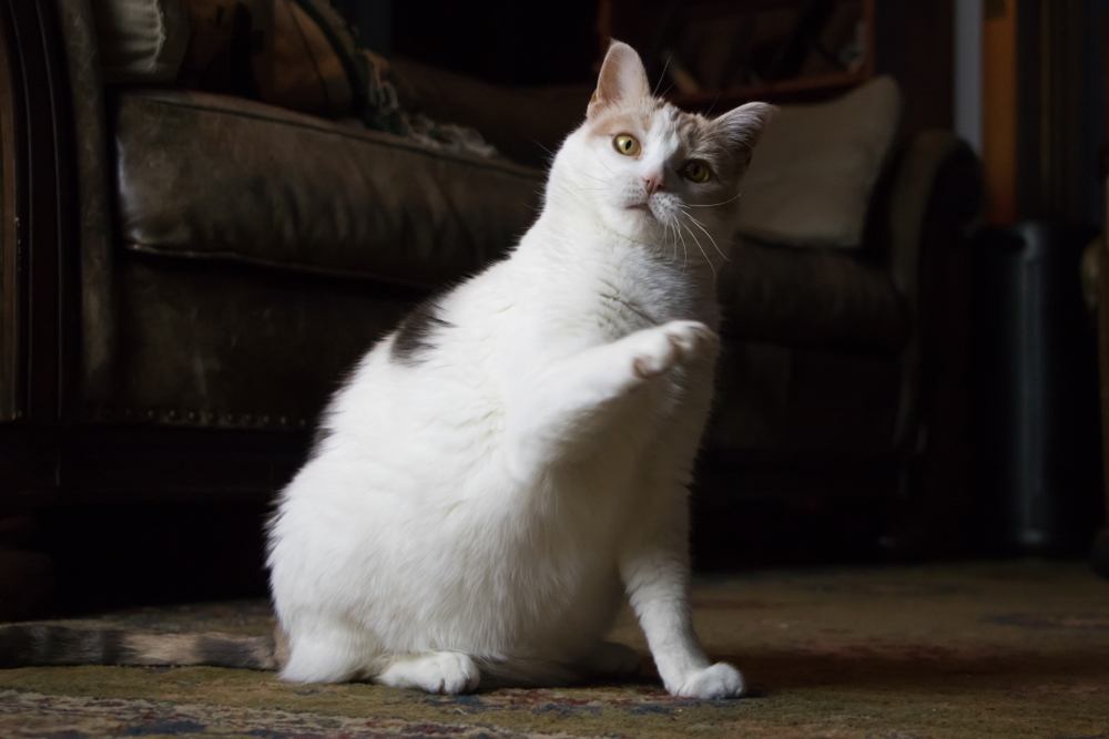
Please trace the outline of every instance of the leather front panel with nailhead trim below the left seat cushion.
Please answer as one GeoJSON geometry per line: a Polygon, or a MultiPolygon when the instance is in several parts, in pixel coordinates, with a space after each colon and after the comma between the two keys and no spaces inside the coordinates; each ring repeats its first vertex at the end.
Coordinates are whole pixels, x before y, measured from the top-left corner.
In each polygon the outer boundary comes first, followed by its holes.
{"type": "Polygon", "coordinates": [[[217,261],[132,257],[119,278],[119,382],[88,399],[101,422],[303,429],[411,300],[217,261]]]}

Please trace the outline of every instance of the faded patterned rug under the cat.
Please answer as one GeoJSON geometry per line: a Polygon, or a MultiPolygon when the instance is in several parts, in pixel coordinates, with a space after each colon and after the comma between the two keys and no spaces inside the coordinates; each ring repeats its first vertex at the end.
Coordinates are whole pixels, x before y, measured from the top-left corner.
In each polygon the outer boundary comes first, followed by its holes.
{"type": "MultiPolygon", "coordinates": [[[[702,579],[698,628],[741,700],[643,679],[442,697],[215,668],[0,670],[0,737],[1109,737],[1109,583],[1078,563],[702,579]]],[[[265,604],[105,616],[262,632],[265,604]]],[[[615,637],[643,649],[623,618],[615,637]]]]}

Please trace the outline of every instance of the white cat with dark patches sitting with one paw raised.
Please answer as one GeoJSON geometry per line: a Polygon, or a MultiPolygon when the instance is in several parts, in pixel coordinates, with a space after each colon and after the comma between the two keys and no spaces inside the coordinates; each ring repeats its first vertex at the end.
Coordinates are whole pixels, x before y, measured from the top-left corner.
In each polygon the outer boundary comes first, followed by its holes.
{"type": "MultiPolygon", "coordinates": [[[[740,696],[691,624],[688,490],[715,270],[772,113],[681,112],[613,41],[536,223],[376,343],[324,413],[268,528],[278,643],[177,636],[170,661],[442,694],[621,676],[640,658],[604,635],[627,597],[668,691],[740,696]]],[[[108,651],[157,661],[119,634],[82,654],[108,651]]]]}

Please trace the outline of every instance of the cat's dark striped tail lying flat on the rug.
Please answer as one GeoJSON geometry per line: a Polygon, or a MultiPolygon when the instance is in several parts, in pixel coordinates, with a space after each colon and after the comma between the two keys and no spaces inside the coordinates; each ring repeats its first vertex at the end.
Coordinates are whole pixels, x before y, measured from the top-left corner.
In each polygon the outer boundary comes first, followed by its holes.
{"type": "Polygon", "coordinates": [[[52,665],[207,665],[278,667],[273,637],[202,632],[0,624],[0,668],[52,665]]]}

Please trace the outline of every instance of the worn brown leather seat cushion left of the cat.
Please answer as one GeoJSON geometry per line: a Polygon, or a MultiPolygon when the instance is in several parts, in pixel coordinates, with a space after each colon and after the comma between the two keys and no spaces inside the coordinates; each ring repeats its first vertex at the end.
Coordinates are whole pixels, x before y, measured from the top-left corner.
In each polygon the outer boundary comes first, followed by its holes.
{"type": "Polygon", "coordinates": [[[541,172],[261,103],[184,92],[119,97],[124,243],[434,286],[510,247],[541,172]]]}

